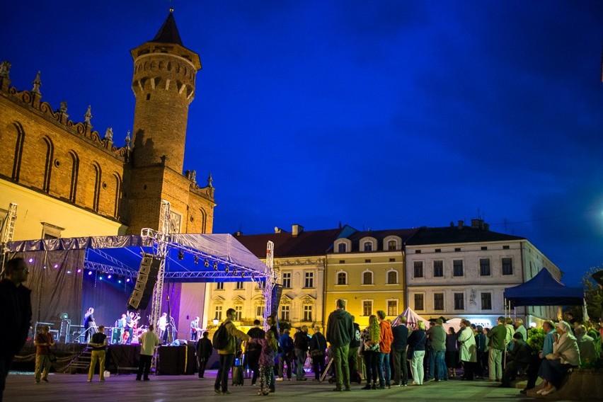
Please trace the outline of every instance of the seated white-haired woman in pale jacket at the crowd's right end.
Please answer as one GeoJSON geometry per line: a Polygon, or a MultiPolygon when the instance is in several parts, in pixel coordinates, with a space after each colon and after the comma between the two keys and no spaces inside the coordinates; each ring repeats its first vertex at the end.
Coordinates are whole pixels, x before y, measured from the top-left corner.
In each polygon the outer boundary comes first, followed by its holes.
{"type": "Polygon", "coordinates": [[[580,350],[576,338],[572,335],[570,324],[559,321],[555,326],[553,353],[546,355],[540,365],[538,375],[544,381],[542,381],[542,388],[536,394],[552,394],[558,386],[561,386],[569,369],[580,365],[580,350]]]}

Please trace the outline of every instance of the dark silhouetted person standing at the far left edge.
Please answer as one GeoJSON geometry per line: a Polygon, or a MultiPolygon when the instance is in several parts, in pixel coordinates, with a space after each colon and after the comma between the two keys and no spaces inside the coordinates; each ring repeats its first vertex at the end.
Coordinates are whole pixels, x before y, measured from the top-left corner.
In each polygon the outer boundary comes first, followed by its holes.
{"type": "Polygon", "coordinates": [[[29,268],[23,258],[12,258],[4,264],[0,280],[0,401],[6,376],[13,358],[25,345],[31,321],[31,291],[23,286],[29,268]]]}

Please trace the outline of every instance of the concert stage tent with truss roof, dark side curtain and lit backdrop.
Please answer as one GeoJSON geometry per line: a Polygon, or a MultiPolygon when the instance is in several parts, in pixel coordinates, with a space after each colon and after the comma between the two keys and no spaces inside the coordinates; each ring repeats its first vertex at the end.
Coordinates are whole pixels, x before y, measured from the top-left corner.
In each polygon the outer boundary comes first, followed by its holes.
{"type": "Polygon", "coordinates": [[[163,288],[163,300],[169,294],[172,304],[179,303],[180,282],[265,282],[273,275],[230,234],[160,235],[143,229],[141,235],[13,241],[6,252],[28,261],[33,320],[45,323],[60,316],[79,323],[87,306],[98,307],[98,321],[113,322],[125,309],[143,254],[157,254],[160,241],[164,280],[173,284],[163,288]]]}

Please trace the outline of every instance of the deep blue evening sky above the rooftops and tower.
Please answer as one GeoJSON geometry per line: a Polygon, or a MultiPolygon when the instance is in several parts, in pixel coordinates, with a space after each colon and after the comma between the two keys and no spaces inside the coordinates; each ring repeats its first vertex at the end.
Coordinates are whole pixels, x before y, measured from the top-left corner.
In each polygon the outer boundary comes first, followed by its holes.
{"type": "MultiPolygon", "coordinates": [[[[603,263],[603,2],[173,1],[200,54],[185,169],[214,232],[478,217],[578,283],[603,263]]],[[[0,59],[122,144],[168,1],[6,1],[0,59]],[[85,5],[85,6],[84,6],[85,5]]]]}

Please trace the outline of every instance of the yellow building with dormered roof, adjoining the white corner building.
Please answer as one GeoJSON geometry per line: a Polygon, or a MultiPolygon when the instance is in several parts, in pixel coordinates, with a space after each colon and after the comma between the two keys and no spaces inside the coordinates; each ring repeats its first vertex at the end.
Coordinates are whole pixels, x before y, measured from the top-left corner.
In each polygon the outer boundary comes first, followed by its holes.
{"type": "Polygon", "coordinates": [[[404,243],[415,229],[350,231],[326,255],[323,315],[335,310],[337,299],[360,327],[378,310],[394,319],[406,307],[404,243]]]}

